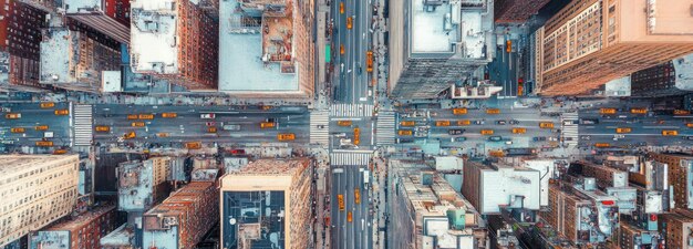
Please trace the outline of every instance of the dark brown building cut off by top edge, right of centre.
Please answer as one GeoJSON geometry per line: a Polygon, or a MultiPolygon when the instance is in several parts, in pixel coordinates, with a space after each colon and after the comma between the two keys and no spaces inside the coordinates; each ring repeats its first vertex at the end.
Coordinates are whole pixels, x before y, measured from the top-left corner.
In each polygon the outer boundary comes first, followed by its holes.
{"type": "Polygon", "coordinates": [[[525,22],[539,12],[550,0],[496,0],[494,19],[496,22],[525,22]]]}

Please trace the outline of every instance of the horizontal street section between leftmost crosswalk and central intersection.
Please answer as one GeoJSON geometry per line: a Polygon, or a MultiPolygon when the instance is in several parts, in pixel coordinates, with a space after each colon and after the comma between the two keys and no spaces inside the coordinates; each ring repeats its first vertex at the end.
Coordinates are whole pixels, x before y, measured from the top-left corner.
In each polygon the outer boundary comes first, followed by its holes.
{"type": "Polygon", "coordinates": [[[278,134],[292,133],[289,143],[309,142],[309,114],[303,107],[277,110],[237,110],[229,106],[153,106],[153,105],[97,105],[94,107],[94,125],[111,126],[108,133],[94,133],[95,142],[113,143],[125,133],[135,132],[133,141],[147,143],[193,142],[203,143],[275,143],[278,134]],[[162,113],[176,113],[175,118],[163,118],[162,113]],[[203,120],[200,114],[214,113],[214,120],[203,120]],[[154,114],[154,120],[127,120],[127,114],[154,114]],[[273,128],[260,128],[267,118],[277,121],[273,128]],[[144,127],[133,127],[133,122],[145,122],[144,127]],[[217,133],[207,133],[213,122],[217,133]],[[240,125],[239,131],[224,131],[223,125],[240,125]],[[167,137],[158,137],[165,133],[167,137]]]}

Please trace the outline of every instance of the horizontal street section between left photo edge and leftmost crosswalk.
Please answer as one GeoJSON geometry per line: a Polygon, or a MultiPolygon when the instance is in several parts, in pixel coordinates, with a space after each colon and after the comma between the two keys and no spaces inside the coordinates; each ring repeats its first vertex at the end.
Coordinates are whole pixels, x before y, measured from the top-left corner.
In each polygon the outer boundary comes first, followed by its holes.
{"type": "Polygon", "coordinates": [[[8,120],[2,113],[0,120],[0,141],[6,145],[15,146],[35,146],[37,141],[41,141],[45,132],[52,132],[53,137],[46,138],[52,141],[54,146],[70,145],[70,116],[54,114],[55,110],[70,108],[68,103],[55,103],[54,107],[41,108],[39,103],[22,104],[2,104],[3,108],[9,108],[12,113],[21,113],[19,120],[8,120]],[[48,131],[37,131],[35,126],[48,125],[48,131]],[[11,133],[11,128],[22,127],[23,133],[11,133]]]}

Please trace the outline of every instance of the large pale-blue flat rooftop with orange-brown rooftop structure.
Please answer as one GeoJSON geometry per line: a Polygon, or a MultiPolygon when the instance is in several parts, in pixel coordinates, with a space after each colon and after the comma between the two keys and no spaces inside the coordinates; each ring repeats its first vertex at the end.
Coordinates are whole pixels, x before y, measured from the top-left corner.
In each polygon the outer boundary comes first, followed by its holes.
{"type": "Polygon", "coordinates": [[[299,91],[291,4],[285,17],[251,15],[238,6],[237,0],[219,2],[219,91],[299,91]]]}

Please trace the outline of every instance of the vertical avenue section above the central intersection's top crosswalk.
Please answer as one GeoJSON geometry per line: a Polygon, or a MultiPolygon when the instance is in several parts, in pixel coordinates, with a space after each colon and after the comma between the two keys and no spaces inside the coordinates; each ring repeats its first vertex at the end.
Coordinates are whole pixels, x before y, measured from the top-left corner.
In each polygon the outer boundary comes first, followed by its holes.
{"type": "Polygon", "coordinates": [[[366,72],[365,53],[371,48],[370,32],[372,6],[370,1],[341,0],[344,13],[340,13],[340,1],[332,4],[332,17],[337,35],[333,40],[335,101],[339,103],[366,103],[369,97],[370,73],[366,72]],[[346,19],[352,18],[352,28],[346,28],[346,19]],[[344,45],[344,54],[340,54],[340,45],[344,45]],[[342,66],[343,65],[343,66],[342,66]]]}

